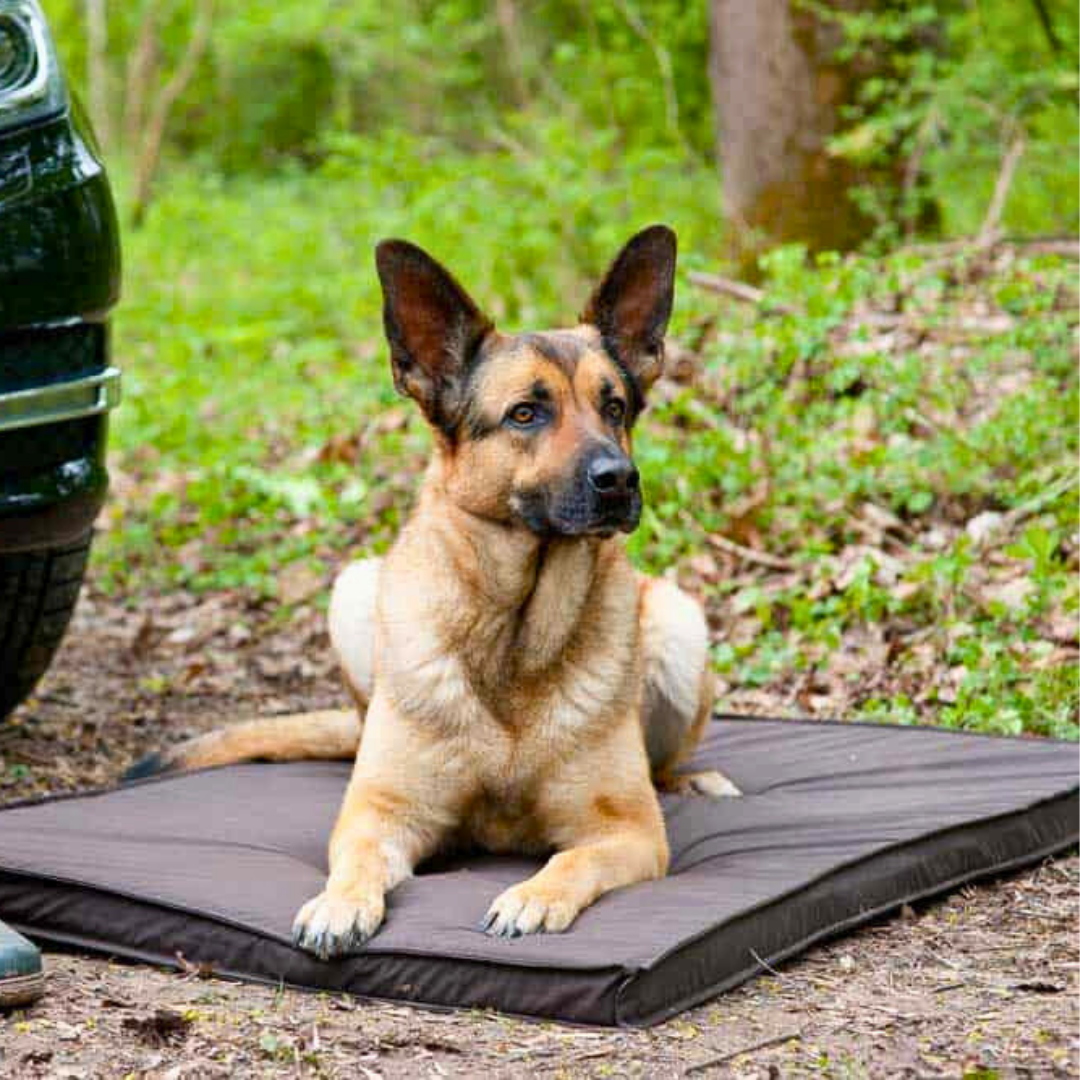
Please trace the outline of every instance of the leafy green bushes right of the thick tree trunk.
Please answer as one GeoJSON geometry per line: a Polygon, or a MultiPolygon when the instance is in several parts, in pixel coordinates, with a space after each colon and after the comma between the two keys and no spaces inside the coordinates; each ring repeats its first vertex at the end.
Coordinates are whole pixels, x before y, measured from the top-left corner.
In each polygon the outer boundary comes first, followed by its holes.
{"type": "Polygon", "coordinates": [[[1048,0],[1049,33],[1030,0],[886,2],[846,13],[809,2],[845,31],[849,57],[890,58],[867,80],[833,150],[855,162],[903,159],[918,165],[906,206],[863,200],[894,240],[917,226],[926,200],[947,234],[974,232],[983,220],[1007,148],[1024,154],[1005,206],[1014,233],[1075,232],[1077,185],[1077,6],[1048,0]]]}

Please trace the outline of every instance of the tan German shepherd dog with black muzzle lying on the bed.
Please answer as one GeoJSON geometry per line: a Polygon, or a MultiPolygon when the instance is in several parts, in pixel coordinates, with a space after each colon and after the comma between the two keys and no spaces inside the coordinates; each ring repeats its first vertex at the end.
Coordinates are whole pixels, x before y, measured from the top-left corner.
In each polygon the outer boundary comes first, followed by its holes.
{"type": "Polygon", "coordinates": [[[566,930],[666,872],[657,787],[739,794],[675,772],[713,701],[705,619],[618,539],[642,514],[631,433],[663,368],[675,248],[639,232],[577,326],[510,335],[419,247],[378,245],[394,382],[434,453],[386,557],[334,585],[356,712],[233,725],[137,767],[355,756],[326,888],[294,924],[316,956],[356,950],[387,892],[451,846],[550,855],[481,926],[566,930]]]}

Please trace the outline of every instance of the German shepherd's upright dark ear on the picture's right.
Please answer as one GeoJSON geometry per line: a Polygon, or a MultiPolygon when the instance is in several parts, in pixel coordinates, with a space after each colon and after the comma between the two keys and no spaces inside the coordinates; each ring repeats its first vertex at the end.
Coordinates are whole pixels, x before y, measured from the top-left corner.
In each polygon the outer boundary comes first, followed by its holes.
{"type": "Polygon", "coordinates": [[[605,348],[639,396],[663,370],[664,333],[675,298],[675,233],[667,226],[644,229],[616,257],[581,315],[600,332],[605,348]]]}

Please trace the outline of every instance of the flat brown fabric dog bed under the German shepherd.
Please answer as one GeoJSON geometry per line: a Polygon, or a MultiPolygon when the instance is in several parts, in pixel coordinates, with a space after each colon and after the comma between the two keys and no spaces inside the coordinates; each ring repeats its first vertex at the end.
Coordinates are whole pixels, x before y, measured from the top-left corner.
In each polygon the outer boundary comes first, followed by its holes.
{"type": "Polygon", "coordinates": [[[745,793],[667,797],[672,872],[569,932],[489,937],[531,873],[477,855],[391,893],[365,950],[289,944],[326,870],[345,764],[174,774],[0,812],[0,917],[39,942],[225,975],[586,1024],[664,1020],[882,913],[1077,840],[1077,747],[924,728],[729,717],[696,768],[745,793]]]}

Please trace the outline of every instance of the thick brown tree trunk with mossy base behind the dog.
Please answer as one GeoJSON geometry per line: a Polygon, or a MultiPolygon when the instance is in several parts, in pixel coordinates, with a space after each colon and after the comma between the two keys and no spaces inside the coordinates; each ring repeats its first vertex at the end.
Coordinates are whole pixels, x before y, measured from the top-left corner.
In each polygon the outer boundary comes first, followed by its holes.
{"type": "Polygon", "coordinates": [[[872,225],[849,198],[860,177],[826,144],[865,72],[835,59],[839,29],[795,0],[711,0],[710,15],[717,156],[735,256],[745,269],[770,243],[854,246],[872,225]]]}

